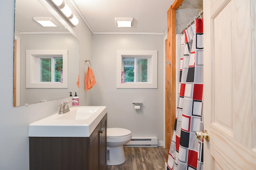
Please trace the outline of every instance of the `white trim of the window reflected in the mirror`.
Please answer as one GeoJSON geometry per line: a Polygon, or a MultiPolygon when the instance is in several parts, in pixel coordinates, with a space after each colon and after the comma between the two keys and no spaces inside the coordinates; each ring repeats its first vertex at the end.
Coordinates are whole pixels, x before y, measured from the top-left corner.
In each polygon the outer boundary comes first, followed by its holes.
{"type": "Polygon", "coordinates": [[[26,50],[26,88],[68,88],[68,50],[26,50]],[[62,83],[38,82],[37,55],[62,55],[62,83]]]}

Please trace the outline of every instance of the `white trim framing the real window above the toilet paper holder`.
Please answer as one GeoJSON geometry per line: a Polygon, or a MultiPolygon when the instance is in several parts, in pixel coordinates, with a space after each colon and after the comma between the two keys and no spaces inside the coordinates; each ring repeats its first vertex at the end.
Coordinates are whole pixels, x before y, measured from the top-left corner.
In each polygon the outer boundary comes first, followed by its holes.
{"type": "MultiPolygon", "coordinates": [[[[134,72],[135,73],[135,72],[134,72]]],[[[157,88],[157,51],[140,50],[140,51],[116,51],[116,88],[157,88]],[[128,57],[146,57],[151,58],[149,63],[149,82],[127,82],[122,83],[122,59],[128,57]]]]}

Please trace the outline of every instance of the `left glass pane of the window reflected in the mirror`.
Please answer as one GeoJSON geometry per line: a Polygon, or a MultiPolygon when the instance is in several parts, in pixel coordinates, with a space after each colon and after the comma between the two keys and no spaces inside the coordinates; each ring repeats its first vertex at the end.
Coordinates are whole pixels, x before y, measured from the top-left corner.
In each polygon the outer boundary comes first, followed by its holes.
{"type": "Polygon", "coordinates": [[[40,59],[41,69],[40,69],[40,81],[41,82],[51,82],[51,59],[40,59]]]}

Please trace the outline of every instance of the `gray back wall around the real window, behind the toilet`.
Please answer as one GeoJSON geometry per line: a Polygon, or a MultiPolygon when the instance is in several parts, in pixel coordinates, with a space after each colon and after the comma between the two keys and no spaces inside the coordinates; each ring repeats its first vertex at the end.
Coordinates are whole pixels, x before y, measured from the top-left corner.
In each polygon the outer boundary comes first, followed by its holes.
{"type": "Polygon", "coordinates": [[[92,70],[97,84],[92,104],[107,106],[108,127],[132,131],[133,137],[163,141],[163,35],[93,35],[92,70]],[[116,50],[157,50],[157,89],[117,89],[116,50]],[[134,110],[133,102],[143,103],[134,110]]]}

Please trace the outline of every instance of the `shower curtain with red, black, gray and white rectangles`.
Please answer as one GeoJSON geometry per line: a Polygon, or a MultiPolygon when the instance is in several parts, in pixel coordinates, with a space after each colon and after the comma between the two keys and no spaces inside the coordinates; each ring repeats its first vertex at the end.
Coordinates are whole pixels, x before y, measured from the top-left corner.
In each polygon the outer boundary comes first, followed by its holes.
{"type": "Polygon", "coordinates": [[[202,170],[203,140],[196,139],[195,132],[203,131],[203,20],[196,19],[180,39],[178,102],[167,170],[202,170]]]}

